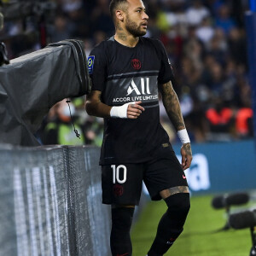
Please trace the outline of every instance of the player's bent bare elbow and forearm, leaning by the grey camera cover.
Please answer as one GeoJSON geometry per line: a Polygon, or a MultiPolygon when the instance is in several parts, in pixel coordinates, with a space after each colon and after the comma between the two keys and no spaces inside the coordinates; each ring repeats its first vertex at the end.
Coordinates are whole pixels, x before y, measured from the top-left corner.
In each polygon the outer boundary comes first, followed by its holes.
{"type": "Polygon", "coordinates": [[[100,90],[91,90],[86,98],[85,109],[90,115],[108,118],[110,117],[111,107],[102,103],[102,92],[100,90]]]}

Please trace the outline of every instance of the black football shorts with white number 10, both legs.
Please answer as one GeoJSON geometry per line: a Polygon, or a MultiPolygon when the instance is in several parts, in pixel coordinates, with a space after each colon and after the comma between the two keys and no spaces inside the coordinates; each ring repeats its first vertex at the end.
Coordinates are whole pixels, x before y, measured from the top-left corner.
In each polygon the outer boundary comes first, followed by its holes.
{"type": "Polygon", "coordinates": [[[102,166],[102,203],[138,205],[143,181],[153,201],[160,191],[188,186],[185,173],[173,150],[168,157],[136,164],[102,166]]]}

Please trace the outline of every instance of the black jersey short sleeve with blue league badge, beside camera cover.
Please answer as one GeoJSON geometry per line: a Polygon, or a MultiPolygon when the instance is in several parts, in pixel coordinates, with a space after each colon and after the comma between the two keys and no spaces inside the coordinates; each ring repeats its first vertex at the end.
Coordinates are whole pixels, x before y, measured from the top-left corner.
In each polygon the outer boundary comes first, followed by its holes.
{"type": "Polygon", "coordinates": [[[107,75],[107,61],[102,44],[92,49],[88,57],[88,69],[92,81],[91,90],[104,89],[107,75]]]}

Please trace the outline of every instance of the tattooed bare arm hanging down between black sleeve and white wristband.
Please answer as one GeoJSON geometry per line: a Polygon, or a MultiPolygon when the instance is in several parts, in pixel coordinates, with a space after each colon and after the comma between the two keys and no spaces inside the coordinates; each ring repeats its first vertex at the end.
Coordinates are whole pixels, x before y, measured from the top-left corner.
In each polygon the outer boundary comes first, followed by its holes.
{"type": "Polygon", "coordinates": [[[174,125],[177,131],[185,129],[183,115],[181,113],[177,94],[172,88],[172,83],[168,82],[166,84],[160,84],[160,93],[166,108],[166,113],[171,119],[172,125],[174,125]]]}

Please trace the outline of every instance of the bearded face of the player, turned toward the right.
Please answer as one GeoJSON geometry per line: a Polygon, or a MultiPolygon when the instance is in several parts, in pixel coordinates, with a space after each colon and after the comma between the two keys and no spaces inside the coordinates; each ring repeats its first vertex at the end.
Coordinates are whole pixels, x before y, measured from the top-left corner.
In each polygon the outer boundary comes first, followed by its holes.
{"type": "Polygon", "coordinates": [[[128,0],[125,28],[135,37],[144,36],[147,32],[148,15],[141,0],[128,0]]]}

